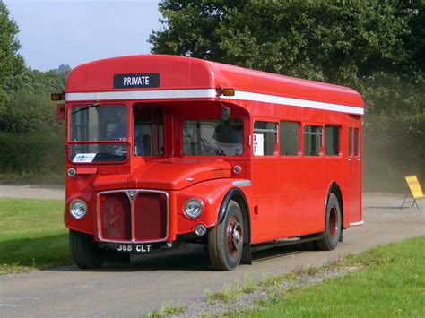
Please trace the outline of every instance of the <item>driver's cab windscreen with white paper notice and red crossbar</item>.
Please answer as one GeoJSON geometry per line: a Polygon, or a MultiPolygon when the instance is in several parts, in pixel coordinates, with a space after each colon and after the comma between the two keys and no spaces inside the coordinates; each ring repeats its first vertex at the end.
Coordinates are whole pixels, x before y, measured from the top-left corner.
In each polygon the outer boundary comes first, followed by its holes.
{"type": "Polygon", "coordinates": [[[125,106],[72,107],[70,159],[75,163],[124,161],[127,158],[127,109],[125,106]]]}

